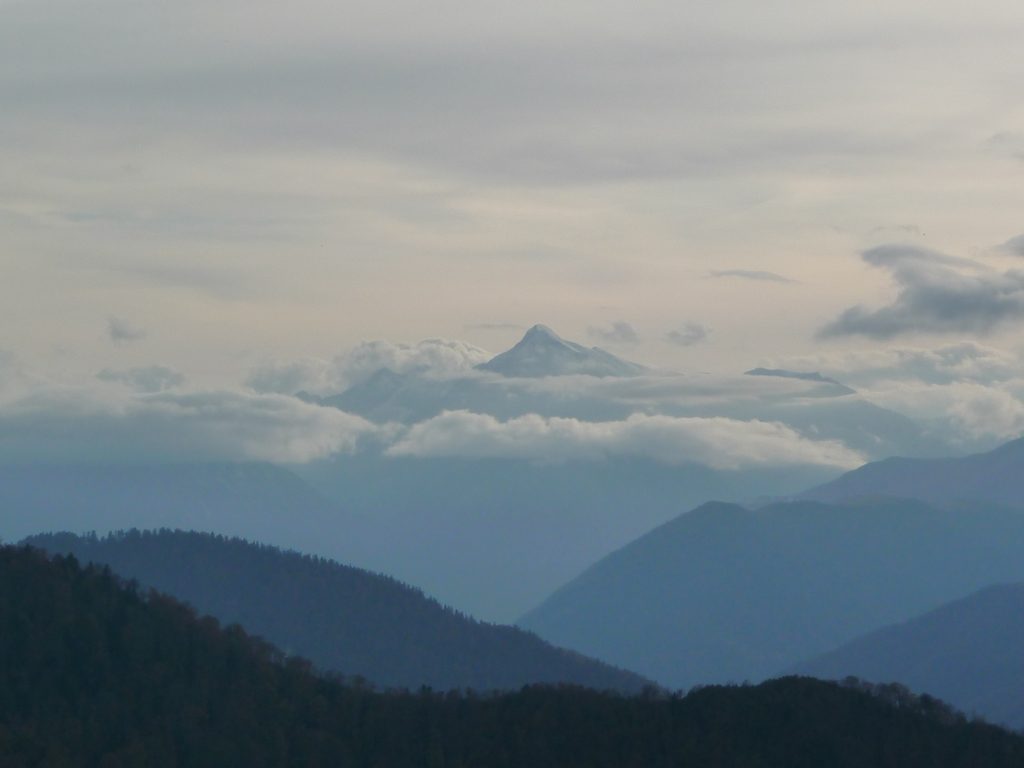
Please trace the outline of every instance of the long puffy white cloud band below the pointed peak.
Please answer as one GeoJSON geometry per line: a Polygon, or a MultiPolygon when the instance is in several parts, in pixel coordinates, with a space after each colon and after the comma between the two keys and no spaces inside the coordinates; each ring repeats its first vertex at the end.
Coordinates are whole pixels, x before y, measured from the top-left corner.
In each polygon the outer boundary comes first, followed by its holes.
{"type": "Polygon", "coordinates": [[[720,470],[817,465],[853,468],[859,454],[834,440],[810,440],[778,423],[634,414],[614,422],[523,416],[501,422],[449,411],[417,424],[390,456],[527,459],[539,462],[646,457],[720,470]]]}

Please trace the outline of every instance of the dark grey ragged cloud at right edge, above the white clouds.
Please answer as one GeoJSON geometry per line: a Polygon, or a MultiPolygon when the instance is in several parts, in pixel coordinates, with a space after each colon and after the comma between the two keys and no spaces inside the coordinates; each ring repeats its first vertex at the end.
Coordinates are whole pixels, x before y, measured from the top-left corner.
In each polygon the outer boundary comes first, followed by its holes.
{"type": "Polygon", "coordinates": [[[850,307],[822,328],[819,338],[984,334],[1024,316],[1024,271],[996,272],[977,261],[906,245],[872,248],[863,259],[892,274],[900,287],[896,300],[874,310],[850,307]]]}

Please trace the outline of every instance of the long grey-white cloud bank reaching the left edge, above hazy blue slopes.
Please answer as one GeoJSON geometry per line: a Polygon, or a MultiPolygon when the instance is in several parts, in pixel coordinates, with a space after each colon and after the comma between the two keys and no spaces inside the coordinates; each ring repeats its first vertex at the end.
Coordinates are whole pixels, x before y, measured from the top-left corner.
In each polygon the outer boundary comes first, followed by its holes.
{"type": "Polygon", "coordinates": [[[0,461],[301,463],[351,453],[376,431],[282,395],[48,390],[0,407],[0,461]]]}

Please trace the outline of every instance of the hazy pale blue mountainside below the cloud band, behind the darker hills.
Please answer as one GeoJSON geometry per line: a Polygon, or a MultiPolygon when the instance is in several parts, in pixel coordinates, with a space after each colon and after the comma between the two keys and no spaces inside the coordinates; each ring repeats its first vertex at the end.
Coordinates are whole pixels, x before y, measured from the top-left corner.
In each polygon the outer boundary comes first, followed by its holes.
{"type": "Polygon", "coordinates": [[[290,469],[4,467],[0,539],[162,527],[238,536],[385,572],[479,618],[511,623],[701,499],[792,494],[833,474],[796,467],[739,476],[628,459],[595,466],[368,453],[290,469]]]}

